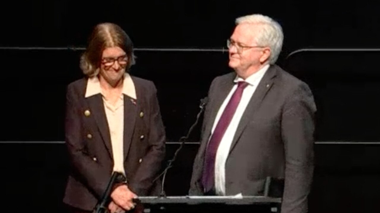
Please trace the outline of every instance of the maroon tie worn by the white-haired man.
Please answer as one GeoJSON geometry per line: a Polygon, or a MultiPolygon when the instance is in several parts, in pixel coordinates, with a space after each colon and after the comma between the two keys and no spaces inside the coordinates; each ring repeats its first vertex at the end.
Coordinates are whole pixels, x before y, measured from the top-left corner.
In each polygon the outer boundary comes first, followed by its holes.
{"type": "Polygon", "coordinates": [[[239,105],[244,88],[247,85],[248,83],[245,81],[237,82],[237,89],[232,95],[228,104],[226,105],[226,108],[224,109],[222,116],[220,116],[218,124],[215,127],[214,133],[211,135],[209,144],[207,145],[202,175],[202,185],[206,192],[210,191],[214,186],[216,152],[228,125],[230,125],[232,117],[235,114],[236,108],[239,105]]]}

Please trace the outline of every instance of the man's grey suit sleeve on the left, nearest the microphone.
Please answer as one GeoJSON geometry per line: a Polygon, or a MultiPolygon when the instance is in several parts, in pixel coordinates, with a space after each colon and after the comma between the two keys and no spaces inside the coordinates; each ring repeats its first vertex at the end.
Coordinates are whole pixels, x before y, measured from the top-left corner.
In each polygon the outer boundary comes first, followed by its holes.
{"type": "MultiPolygon", "coordinates": [[[[208,92],[208,103],[212,101],[212,94],[214,91],[215,87],[215,82],[217,81],[217,78],[215,78],[210,86],[209,92],[208,92]]],[[[194,159],[194,164],[193,164],[193,172],[192,172],[192,178],[190,180],[190,190],[189,190],[189,195],[191,196],[199,196],[203,195],[203,188],[200,185],[199,180],[202,178],[202,171],[203,171],[203,159],[204,159],[204,153],[203,150],[204,146],[207,145],[207,139],[204,139],[204,137],[208,137],[208,133],[204,132],[205,126],[206,126],[206,118],[208,117],[208,114],[210,113],[210,108],[208,107],[209,105],[206,105],[206,110],[204,112],[203,116],[203,124],[202,124],[202,129],[201,129],[201,144],[198,149],[198,153],[195,156],[194,159]],[[202,143],[206,141],[205,143],[202,143]]]]}

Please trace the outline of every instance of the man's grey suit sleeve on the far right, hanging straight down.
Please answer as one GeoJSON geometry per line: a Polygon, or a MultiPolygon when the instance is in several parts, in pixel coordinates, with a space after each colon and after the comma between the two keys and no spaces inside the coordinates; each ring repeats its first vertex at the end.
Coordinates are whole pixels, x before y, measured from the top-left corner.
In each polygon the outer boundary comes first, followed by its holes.
{"type": "Polygon", "coordinates": [[[307,212],[307,196],[313,177],[315,111],[312,92],[305,83],[286,99],[281,124],[285,146],[282,213],[307,212]]]}

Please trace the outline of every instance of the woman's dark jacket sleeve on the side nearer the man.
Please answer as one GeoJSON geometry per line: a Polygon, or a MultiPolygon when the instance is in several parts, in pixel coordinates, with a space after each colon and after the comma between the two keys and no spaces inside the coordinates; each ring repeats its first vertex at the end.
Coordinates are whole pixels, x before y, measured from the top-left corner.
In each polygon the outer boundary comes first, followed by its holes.
{"type": "Polygon", "coordinates": [[[130,188],[138,195],[147,195],[153,185],[153,180],[161,169],[165,158],[165,128],[161,119],[160,106],[157,100],[157,90],[152,83],[149,104],[149,150],[144,156],[138,170],[136,171],[130,188]]]}

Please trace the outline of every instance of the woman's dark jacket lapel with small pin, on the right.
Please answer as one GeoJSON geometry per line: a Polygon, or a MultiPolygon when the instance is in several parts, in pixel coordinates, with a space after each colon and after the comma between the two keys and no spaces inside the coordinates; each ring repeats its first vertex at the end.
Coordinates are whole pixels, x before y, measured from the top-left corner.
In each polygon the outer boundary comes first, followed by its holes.
{"type": "Polygon", "coordinates": [[[137,100],[124,95],[124,135],[123,135],[123,153],[124,159],[128,156],[129,147],[131,146],[137,109],[139,108],[137,100]]]}

